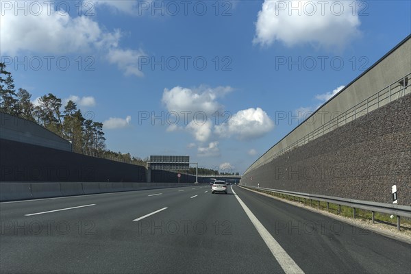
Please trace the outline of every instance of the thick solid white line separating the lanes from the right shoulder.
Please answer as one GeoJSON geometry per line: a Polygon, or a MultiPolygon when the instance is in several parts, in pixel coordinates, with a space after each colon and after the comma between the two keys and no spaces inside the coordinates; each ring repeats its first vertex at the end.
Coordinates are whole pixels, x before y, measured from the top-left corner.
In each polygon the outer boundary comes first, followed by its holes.
{"type": "Polygon", "coordinates": [[[269,247],[271,253],[275,260],[279,263],[286,274],[288,273],[301,273],[303,274],[304,271],[300,269],[300,267],[292,260],[292,258],[288,255],[288,253],[279,245],[279,243],[271,236],[270,232],[258,221],[257,217],[249,210],[249,208],[245,205],[245,203],[236,195],[236,192],[231,187],[232,192],[234,193],[235,197],[238,200],[238,203],[242,206],[242,209],[245,211],[247,216],[249,217],[251,223],[253,223],[254,227],[256,227],[258,233],[260,234],[262,240],[266,243],[267,247],[269,247]]]}

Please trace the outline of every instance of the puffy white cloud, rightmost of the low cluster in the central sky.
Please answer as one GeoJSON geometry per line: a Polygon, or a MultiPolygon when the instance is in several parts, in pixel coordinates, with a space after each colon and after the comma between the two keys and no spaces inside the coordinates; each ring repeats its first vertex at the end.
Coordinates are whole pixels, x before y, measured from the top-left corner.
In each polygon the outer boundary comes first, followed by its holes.
{"type": "Polygon", "coordinates": [[[227,125],[214,126],[216,134],[221,137],[234,136],[238,140],[258,138],[271,132],[274,123],[261,108],[240,110],[232,116],[227,125]]]}

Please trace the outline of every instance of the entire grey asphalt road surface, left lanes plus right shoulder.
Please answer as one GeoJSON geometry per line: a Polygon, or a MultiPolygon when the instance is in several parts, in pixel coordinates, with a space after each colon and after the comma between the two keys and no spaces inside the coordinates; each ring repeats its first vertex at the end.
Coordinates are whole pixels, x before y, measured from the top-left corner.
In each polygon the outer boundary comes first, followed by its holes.
{"type": "MultiPolygon", "coordinates": [[[[305,273],[411,272],[410,245],[234,190],[305,273]]],[[[0,272],[284,273],[229,193],[200,185],[0,203],[0,272]]]]}

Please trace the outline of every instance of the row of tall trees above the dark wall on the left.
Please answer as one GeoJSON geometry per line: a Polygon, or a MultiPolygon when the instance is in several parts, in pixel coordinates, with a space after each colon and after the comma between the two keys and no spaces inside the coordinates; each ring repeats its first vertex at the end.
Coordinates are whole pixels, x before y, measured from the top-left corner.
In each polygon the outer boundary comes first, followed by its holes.
{"type": "Polygon", "coordinates": [[[145,165],[145,160],[130,153],[106,149],[103,123],[86,119],[74,101],[62,105],[62,99],[52,93],[43,95],[36,105],[32,95],[23,88],[16,92],[14,79],[0,62],[0,111],[42,125],[51,132],[69,140],[73,151],[95,157],[145,165]]]}

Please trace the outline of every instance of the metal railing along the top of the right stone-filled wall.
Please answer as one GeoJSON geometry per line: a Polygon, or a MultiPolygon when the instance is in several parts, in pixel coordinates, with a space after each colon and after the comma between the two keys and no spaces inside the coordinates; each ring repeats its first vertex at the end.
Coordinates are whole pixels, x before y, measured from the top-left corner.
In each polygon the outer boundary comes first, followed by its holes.
{"type": "Polygon", "coordinates": [[[397,81],[395,81],[393,84],[390,84],[386,86],[385,88],[383,88],[382,90],[379,90],[379,92],[376,92],[374,95],[371,95],[367,99],[354,105],[352,108],[349,108],[342,114],[339,114],[338,116],[334,117],[334,119],[328,121],[324,125],[321,125],[321,127],[314,129],[314,131],[310,132],[306,136],[300,138],[296,142],[293,142],[291,145],[288,145],[286,148],[278,151],[272,157],[270,157],[267,160],[264,160],[264,162],[261,162],[253,169],[258,169],[260,166],[268,162],[271,162],[275,158],[279,157],[279,155],[282,155],[286,153],[287,151],[294,149],[295,147],[300,147],[302,145],[305,145],[306,143],[316,138],[319,138],[320,136],[323,136],[329,132],[332,132],[332,130],[336,129],[337,127],[340,127],[341,125],[345,125],[346,123],[349,123],[359,118],[360,116],[371,112],[372,110],[376,110],[377,108],[380,108],[383,105],[390,103],[391,101],[394,101],[396,99],[399,99],[407,95],[408,93],[411,92],[411,90],[407,90],[407,88],[411,86],[410,78],[411,78],[411,73],[408,73],[407,75],[401,77],[401,79],[398,79],[397,81]]]}

